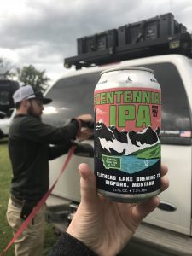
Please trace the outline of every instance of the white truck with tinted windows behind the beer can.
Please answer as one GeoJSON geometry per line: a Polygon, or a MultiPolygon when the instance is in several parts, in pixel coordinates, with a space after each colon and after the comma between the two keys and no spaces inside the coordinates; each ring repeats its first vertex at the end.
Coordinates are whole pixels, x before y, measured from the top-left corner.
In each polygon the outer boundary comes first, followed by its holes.
{"type": "MultiPolygon", "coordinates": [[[[158,55],[121,61],[110,67],[121,65],[151,68],[160,83],[162,162],[169,168],[170,180],[169,189],[160,194],[160,206],[143,220],[132,240],[165,253],[192,255],[192,60],[183,55],[158,55]]],[[[81,113],[93,114],[93,91],[100,73],[108,67],[74,71],[53,84],[46,93],[53,102],[44,109],[44,122],[63,125],[81,113]]],[[[85,143],[93,146],[91,139],[85,143]]],[[[86,162],[93,169],[92,150],[73,155],[48,201],[49,205],[56,205],[58,199],[62,207],[48,207],[49,218],[61,217],[60,221],[67,223],[80,201],[77,167],[86,162]]],[[[66,155],[49,162],[50,184],[65,158],[66,155]]]]}

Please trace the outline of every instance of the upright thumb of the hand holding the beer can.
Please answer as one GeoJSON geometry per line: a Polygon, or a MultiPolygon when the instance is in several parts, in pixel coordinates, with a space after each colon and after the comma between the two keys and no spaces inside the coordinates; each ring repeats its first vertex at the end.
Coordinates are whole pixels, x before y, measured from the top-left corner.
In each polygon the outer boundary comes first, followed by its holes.
{"type": "Polygon", "coordinates": [[[91,203],[96,200],[96,177],[91,172],[90,167],[86,164],[79,165],[80,179],[80,190],[81,190],[81,201],[87,201],[91,203]]]}

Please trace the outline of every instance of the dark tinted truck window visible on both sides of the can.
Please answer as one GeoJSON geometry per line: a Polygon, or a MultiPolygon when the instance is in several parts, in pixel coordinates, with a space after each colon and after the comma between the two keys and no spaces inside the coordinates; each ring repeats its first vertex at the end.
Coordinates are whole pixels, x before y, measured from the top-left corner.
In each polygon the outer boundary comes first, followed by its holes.
{"type": "MultiPolygon", "coordinates": [[[[172,63],[141,66],[154,70],[162,90],[161,143],[191,144],[188,99],[177,68],[172,63]]],[[[60,126],[81,113],[93,114],[93,93],[99,78],[97,72],[57,81],[47,94],[53,102],[45,107],[44,121],[60,126]]]]}

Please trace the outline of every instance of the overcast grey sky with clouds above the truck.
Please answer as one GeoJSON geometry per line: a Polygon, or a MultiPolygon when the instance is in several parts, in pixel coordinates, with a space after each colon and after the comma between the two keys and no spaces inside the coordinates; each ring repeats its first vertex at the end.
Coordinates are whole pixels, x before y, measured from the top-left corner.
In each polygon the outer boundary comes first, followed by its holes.
{"type": "Polygon", "coordinates": [[[192,0],[5,0],[0,8],[0,57],[32,64],[58,79],[77,38],[172,12],[192,32],[192,0]]]}

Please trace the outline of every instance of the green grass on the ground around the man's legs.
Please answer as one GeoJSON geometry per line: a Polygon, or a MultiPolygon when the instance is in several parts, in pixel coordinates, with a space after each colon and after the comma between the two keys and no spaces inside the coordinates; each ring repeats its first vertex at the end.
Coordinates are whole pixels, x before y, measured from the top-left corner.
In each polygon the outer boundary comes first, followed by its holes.
{"type": "MultiPolygon", "coordinates": [[[[7,204],[9,201],[10,181],[12,177],[11,165],[9,161],[7,140],[0,141],[0,253],[3,248],[7,246],[9,241],[13,238],[13,233],[6,219],[7,204]]],[[[47,255],[49,249],[54,245],[57,240],[54,227],[52,224],[45,224],[45,241],[44,251],[41,256],[47,255]]],[[[12,245],[6,256],[13,256],[14,245],[12,245]]]]}

